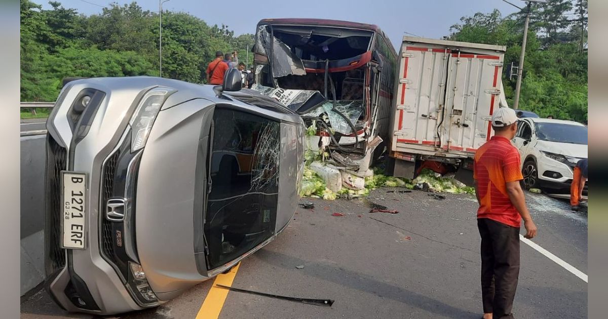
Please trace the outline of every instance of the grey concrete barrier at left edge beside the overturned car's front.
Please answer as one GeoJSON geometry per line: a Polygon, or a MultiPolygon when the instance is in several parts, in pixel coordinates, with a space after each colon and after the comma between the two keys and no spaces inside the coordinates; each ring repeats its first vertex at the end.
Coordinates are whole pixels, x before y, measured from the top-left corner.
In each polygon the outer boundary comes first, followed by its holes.
{"type": "Polygon", "coordinates": [[[21,137],[21,295],[44,280],[45,139],[21,137]]]}

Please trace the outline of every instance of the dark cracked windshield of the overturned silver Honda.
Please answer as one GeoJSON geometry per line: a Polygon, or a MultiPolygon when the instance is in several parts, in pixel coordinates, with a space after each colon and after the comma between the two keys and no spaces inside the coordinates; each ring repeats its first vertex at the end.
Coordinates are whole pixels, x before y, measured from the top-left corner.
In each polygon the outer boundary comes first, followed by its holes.
{"type": "Polygon", "coordinates": [[[280,123],[234,109],[213,114],[207,266],[215,269],[272,236],[278,203],[280,123]]]}

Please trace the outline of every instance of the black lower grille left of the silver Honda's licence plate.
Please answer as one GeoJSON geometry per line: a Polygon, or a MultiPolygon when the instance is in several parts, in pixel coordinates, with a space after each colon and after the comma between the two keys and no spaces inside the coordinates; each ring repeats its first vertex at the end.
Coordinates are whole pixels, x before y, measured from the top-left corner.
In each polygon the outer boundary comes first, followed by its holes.
{"type": "Polygon", "coordinates": [[[61,171],[66,170],[67,151],[50,134],[46,147],[44,261],[48,276],[66,265],[66,253],[61,248],[61,171]]]}

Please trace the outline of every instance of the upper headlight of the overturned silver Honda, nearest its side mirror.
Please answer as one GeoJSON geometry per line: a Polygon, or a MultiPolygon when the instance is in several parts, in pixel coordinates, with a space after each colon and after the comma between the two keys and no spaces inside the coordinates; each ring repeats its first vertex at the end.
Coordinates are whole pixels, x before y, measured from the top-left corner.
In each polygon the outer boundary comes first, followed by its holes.
{"type": "Polygon", "coordinates": [[[131,152],[142,149],[146,145],[150,130],[158,112],[161,111],[162,104],[174,92],[176,91],[168,87],[158,86],[143,95],[142,100],[137,105],[129,121],[133,129],[133,134],[131,134],[131,152]]]}

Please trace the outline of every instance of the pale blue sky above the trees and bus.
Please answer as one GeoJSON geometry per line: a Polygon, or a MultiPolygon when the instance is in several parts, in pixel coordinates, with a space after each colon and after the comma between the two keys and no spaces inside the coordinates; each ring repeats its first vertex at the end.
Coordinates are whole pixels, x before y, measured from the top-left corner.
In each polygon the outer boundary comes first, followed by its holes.
{"type": "MultiPolygon", "coordinates": [[[[102,12],[111,2],[130,3],[130,0],[57,0],[66,8],[92,15],[102,12]]],[[[51,9],[46,0],[33,0],[51,9]]],[[[525,2],[510,0],[523,7],[525,2]]],[[[137,1],[144,10],[157,12],[157,0],[137,1]]],[[[519,11],[502,0],[170,0],[163,10],[181,11],[201,18],[207,24],[226,24],[235,35],[255,33],[255,25],[264,18],[322,18],[376,24],[399,50],[402,36],[412,33],[424,38],[449,35],[453,24],[462,16],[476,12],[489,13],[499,9],[503,16],[519,11]]]]}

